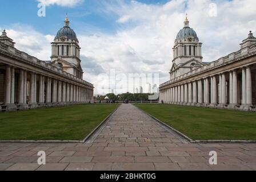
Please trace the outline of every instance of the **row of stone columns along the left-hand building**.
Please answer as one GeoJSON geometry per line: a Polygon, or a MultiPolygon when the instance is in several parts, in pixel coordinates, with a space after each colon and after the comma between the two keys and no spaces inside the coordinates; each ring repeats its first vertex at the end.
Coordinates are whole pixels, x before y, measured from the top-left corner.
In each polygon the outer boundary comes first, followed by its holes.
{"type": "Polygon", "coordinates": [[[4,90],[6,110],[93,102],[92,86],[9,65],[5,69],[4,90]]]}

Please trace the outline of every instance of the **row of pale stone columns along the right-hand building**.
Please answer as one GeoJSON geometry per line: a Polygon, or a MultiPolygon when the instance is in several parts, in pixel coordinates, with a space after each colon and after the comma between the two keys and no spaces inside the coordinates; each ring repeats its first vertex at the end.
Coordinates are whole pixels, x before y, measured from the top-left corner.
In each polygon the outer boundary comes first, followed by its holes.
{"type": "Polygon", "coordinates": [[[252,78],[251,66],[248,66],[182,84],[170,84],[160,90],[159,101],[175,105],[251,110],[255,109],[252,78]]]}

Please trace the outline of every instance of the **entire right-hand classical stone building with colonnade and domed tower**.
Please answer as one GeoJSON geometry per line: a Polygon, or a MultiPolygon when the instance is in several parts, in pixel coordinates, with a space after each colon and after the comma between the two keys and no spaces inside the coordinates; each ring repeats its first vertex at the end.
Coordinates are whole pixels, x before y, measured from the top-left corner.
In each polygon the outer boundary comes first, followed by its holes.
{"type": "Polygon", "coordinates": [[[255,111],[256,38],[249,33],[241,49],[203,63],[201,45],[189,21],[178,32],[170,80],[159,86],[159,102],[255,111]]]}

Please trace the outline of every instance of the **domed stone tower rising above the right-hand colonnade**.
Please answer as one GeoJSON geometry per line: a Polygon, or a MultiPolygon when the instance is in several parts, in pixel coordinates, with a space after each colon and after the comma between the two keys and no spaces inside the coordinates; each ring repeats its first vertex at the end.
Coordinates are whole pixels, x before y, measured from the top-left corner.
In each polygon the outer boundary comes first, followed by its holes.
{"type": "Polygon", "coordinates": [[[199,42],[197,33],[193,28],[189,27],[189,20],[186,16],[184,27],[178,32],[173,47],[174,58],[170,69],[171,80],[203,66],[201,46],[202,43],[199,42]]]}

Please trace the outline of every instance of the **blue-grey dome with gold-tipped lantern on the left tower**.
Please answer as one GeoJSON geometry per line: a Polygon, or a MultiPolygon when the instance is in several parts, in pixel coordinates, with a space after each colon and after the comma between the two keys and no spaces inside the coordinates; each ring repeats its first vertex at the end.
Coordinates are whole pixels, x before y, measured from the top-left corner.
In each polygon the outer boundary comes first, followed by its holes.
{"type": "Polygon", "coordinates": [[[59,39],[62,36],[65,36],[67,39],[78,40],[77,35],[75,34],[74,30],[69,27],[69,19],[66,16],[64,21],[64,27],[62,27],[55,37],[55,39],[59,39]]]}

